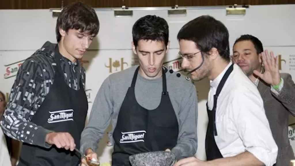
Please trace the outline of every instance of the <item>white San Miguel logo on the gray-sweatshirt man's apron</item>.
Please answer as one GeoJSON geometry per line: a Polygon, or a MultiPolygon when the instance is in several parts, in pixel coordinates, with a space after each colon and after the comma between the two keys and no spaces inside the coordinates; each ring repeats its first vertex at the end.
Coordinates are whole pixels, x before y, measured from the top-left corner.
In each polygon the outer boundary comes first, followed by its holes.
{"type": "Polygon", "coordinates": [[[132,143],[132,142],[144,142],[145,134],[147,133],[144,130],[141,131],[131,131],[131,132],[121,132],[122,138],[120,139],[120,143],[132,143]]]}

